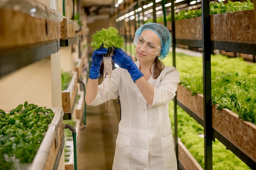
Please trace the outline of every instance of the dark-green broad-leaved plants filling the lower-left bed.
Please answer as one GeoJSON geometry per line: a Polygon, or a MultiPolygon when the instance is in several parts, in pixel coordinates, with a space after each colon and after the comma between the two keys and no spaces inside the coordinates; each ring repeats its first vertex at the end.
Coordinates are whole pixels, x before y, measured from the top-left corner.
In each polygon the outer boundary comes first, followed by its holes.
{"type": "Polygon", "coordinates": [[[0,151],[20,163],[32,162],[53,117],[52,109],[27,102],[10,113],[1,110],[0,151]]]}

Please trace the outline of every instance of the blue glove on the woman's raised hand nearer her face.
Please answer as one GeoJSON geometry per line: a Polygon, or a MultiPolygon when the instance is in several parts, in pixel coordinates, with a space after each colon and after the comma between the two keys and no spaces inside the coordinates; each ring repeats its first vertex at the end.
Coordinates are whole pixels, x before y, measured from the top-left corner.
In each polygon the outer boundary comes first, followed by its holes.
{"type": "Polygon", "coordinates": [[[135,62],[133,62],[132,58],[127,55],[122,49],[114,49],[113,52],[114,56],[112,56],[112,60],[121,68],[126,69],[130,76],[132,77],[133,82],[139,79],[140,77],[144,76],[135,62]]]}

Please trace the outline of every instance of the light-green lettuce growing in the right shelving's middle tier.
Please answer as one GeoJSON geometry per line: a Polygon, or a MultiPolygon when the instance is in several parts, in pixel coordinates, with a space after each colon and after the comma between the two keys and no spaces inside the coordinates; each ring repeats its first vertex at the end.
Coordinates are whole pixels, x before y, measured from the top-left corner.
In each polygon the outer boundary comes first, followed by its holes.
{"type": "MultiPolygon", "coordinates": [[[[163,61],[166,65],[171,57],[163,61]]],[[[203,94],[202,57],[176,53],[180,84],[196,93],[203,94]]],[[[240,119],[256,124],[256,64],[248,64],[243,58],[211,56],[212,104],[218,109],[227,108],[240,119]],[[234,67],[239,65],[239,67],[234,67]]]]}

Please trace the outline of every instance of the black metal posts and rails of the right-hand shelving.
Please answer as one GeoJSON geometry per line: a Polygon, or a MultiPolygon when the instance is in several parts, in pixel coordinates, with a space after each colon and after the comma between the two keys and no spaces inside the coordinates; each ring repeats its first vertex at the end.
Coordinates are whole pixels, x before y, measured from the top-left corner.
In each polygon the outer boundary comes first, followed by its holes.
{"type": "MultiPolygon", "coordinates": [[[[174,4],[174,0],[172,1],[174,4]]],[[[174,10],[172,9],[172,15],[174,15],[174,10]]],[[[251,168],[256,167],[256,162],[249,158],[244,152],[239,148],[234,146],[229,140],[227,140],[223,135],[212,128],[212,116],[211,114],[211,51],[213,49],[245,53],[256,55],[256,44],[245,44],[245,43],[234,43],[234,42],[220,42],[211,41],[210,38],[210,17],[209,17],[209,0],[202,0],[202,40],[188,40],[188,39],[175,39],[175,22],[172,22],[173,30],[173,51],[175,51],[176,44],[193,46],[202,48],[203,55],[203,87],[204,87],[204,120],[198,117],[193,111],[184,106],[181,102],[177,101],[179,105],[186,113],[188,113],[195,121],[204,127],[204,169],[212,170],[212,141],[215,138],[218,139],[223,145],[227,147],[231,152],[233,152],[237,157],[239,157],[247,166],[251,168]],[[210,44],[210,45],[209,45],[210,44]]],[[[173,58],[175,58],[175,53],[173,53],[173,58]]],[[[177,113],[177,107],[174,108],[174,112],[177,113]]],[[[175,119],[177,121],[177,119],[175,119]]],[[[175,124],[175,129],[177,125],[175,124]]],[[[175,135],[176,138],[176,135],[175,135]]],[[[177,139],[175,139],[176,141],[177,139]]],[[[177,146],[175,146],[177,147],[177,146]]],[[[177,148],[175,148],[177,150],[177,148]]]]}

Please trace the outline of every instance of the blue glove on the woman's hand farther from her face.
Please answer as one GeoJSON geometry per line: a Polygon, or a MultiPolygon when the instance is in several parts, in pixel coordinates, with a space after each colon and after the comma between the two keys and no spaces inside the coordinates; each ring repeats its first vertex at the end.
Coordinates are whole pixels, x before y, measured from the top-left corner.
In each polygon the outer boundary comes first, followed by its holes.
{"type": "Polygon", "coordinates": [[[90,74],[89,74],[90,79],[97,79],[101,75],[100,74],[101,62],[103,60],[103,55],[106,54],[107,51],[108,49],[101,48],[101,49],[94,50],[92,52],[92,65],[91,65],[90,74]]]}

